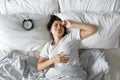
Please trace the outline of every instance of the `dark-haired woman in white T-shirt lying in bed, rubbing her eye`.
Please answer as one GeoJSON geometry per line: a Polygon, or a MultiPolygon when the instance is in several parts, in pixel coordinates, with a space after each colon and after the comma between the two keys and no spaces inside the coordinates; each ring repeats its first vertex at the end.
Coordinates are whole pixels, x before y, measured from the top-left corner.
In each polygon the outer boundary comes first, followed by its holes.
{"type": "Polygon", "coordinates": [[[79,41],[94,34],[96,25],[62,21],[52,15],[47,25],[52,41],[46,43],[40,53],[37,69],[48,69],[45,78],[51,80],[86,80],[86,72],[79,62],[79,41]],[[67,33],[67,28],[79,28],[67,33]]]}

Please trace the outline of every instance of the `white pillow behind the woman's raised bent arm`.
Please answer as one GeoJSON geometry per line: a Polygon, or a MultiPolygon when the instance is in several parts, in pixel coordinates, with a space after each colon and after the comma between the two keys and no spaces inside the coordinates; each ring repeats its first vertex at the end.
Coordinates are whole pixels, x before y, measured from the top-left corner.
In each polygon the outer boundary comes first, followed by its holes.
{"type": "Polygon", "coordinates": [[[98,26],[98,31],[80,42],[80,48],[118,48],[120,35],[120,14],[63,12],[56,14],[62,20],[68,19],[79,23],[98,26]]]}

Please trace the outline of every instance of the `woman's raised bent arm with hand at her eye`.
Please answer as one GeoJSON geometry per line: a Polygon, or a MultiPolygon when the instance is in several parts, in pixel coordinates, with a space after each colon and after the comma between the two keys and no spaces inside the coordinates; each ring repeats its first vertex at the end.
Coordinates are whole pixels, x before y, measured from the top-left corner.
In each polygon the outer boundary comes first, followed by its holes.
{"type": "Polygon", "coordinates": [[[97,26],[93,24],[86,23],[70,23],[70,21],[65,20],[63,24],[67,28],[80,28],[80,38],[84,39],[97,31],[97,26]]]}

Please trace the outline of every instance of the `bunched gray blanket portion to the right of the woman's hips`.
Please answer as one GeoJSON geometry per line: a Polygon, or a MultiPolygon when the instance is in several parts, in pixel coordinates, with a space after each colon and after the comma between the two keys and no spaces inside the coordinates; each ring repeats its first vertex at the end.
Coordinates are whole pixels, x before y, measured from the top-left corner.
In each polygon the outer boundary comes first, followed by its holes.
{"type": "Polygon", "coordinates": [[[84,50],[80,55],[81,66],[88,72],[88,80],[111,80],[110,65],[105,53],[99,49],[84,50]]]}

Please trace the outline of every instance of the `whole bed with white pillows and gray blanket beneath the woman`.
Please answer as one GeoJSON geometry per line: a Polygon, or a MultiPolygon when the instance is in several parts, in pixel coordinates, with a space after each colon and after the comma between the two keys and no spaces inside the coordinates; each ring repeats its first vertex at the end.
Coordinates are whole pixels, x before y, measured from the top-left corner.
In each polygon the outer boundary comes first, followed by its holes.
{"type": "MultiPolygon", "coordinates": [[[[44,80],[47,70],[37,71],[35,63],[51,40],[46,25],[53,14],[97,25],[94,35],[79,42],[79,58],[88,80],[120,79],[120,0],[0,0],[1,80],[44,80]],[[32,19],[32,30],[23,28],[26,19],[32,19]]],[[[77,29],[68,32],[73,30],[77,29]]]]}

